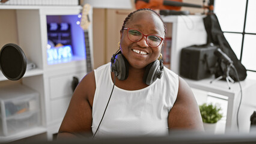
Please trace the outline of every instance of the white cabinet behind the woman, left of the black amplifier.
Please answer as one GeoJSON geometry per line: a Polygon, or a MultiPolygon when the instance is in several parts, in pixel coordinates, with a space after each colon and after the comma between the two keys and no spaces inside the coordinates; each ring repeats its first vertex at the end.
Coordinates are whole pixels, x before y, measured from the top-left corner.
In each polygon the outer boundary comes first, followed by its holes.
{"type": "Polygon", "coordinates": [[[194,44],[206,44],[204,16],[162,16],[163,22],[172,23],[171,70],[179,73],[181,49],[194,44]]]}

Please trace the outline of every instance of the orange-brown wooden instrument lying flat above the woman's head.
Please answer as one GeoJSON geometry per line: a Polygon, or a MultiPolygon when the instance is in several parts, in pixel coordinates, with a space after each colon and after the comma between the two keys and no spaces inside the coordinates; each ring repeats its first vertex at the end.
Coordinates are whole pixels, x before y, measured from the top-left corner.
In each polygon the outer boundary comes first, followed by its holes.
{"type": "MultiPolygon", "coordinates": [[[[182,0],[172,0],[177,2],[182,2],[182,0]]],[[[175,7],[175,6],[166,6],[163,5],[163,0],[150,0],[148,3],[144,1],[137,1],[135,3],[136,9],[141,8],[151,8],[153,10],[180,10],[181,7],[175,7]]]]}

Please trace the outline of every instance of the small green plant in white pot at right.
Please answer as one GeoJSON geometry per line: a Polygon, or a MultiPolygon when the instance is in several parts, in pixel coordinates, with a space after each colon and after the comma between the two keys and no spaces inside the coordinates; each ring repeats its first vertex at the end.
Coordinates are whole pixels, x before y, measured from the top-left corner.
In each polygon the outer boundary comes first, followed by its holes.
{"type": "Polygon", "coordinates": [[[214,133],[217,122],[222,118],[221,107],[212,103],[204,103],[199,106],[199,109],[203,119],[204,130],[214,133]]]}

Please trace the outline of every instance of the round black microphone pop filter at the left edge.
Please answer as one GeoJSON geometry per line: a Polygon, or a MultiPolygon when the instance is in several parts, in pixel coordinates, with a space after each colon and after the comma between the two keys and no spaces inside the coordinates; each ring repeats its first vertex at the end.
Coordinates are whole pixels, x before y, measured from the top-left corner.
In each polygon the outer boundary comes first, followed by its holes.
{"type": "Polygon", "coordinates": [[[5,44],[0,51],[0,69],[9,80],[19,80],[26,72],[26,56],[17,44],[5,44]]]}

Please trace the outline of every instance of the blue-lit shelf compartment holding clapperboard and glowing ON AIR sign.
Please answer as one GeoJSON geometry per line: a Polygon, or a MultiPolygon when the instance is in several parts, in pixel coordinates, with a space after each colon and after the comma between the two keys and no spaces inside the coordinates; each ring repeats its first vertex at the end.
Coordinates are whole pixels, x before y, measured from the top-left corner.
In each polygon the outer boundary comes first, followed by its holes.
{"type": "Polygon", "coordinates": [[[79,14],[47,16],[48,64],[86,59],[84,31],[79,25],[80,20],[79,14]]]}

